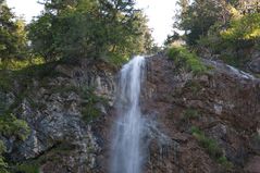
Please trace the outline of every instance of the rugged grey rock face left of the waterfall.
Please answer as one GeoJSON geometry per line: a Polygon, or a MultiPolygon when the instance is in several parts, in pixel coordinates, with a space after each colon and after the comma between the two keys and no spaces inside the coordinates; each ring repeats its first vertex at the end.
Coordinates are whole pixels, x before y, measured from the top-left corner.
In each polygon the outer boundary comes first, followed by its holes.
{"type": "Polygon", "coordinates": [[[3,94],[13,100],[9,106],[16,101],[13,113],[30,128],[25,141],[4,139],[8,156],[16,163],[39,165],[41,173],[98,172],[101,139],[95,129],[113,104],[115,71],[89,61],[52,71],[54,76],[34,77],[23,89],[17,84],[15,95],[23,92],[18,102],[3,94]]]}

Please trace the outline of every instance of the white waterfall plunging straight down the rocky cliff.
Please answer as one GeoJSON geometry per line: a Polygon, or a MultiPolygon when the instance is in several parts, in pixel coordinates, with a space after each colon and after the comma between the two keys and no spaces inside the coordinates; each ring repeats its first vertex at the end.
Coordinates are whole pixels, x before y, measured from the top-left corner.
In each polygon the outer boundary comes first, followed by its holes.
{"type": "Polygon", "coordinates": [[[120,73],[117,120],[113,128],[111,173],[139,173],[144,155],[144,119],[139,108],[145,58],[135,57],[120,73]]]}

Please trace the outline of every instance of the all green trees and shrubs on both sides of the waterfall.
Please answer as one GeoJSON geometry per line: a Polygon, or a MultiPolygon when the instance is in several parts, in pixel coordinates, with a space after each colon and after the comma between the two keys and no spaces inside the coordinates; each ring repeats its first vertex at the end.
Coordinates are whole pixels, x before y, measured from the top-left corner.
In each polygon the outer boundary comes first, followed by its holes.
{"type": "MultiPolygon", "coordinates": [[[[251,1],[249,10],[240,2],[243,0],[194,0],[191,3],[189,0],[178,1],[181,13],[174,28],[184,30],[184,35],[174,33],[165,41],[166,45],[178,39],[186,42],[185,46],[173,45],[168,48],[168,55],[176,65],[174,70],[190,72],[196,77],[205,74],[209,69],[200,59],[205,51],[210,52],[210,57],[216,54],[218,59],[238,67],[244,67],[250,61],[240,52],[247,49],[260,50],[260,11],[255,1],[251,1]]],[[[8,173],[12,169],[14,172],[26,173],[39,171],[38,164],[30,164],[29,161],[12,166],[5,157],[8,138],[21,143],[30,133],[29,125],[21,118],[23,101],[26,100],[32,109],[42,107],[40,101],[35,102],[32,99],[34,96],[30,89],[34,83],[37,83],[38,88],[42,87],[41,89],[50,87],[47,90],[59,94],[55,96],[59,98],[67,92],[78,97],[78,112],[85,123],[90,123],[102,113],[98,104],[106,107],[107,100],[97,96],[91,88],[79,86],[85,84],[77,86],[79,79],[74,86],[65,86],[69,77],[62,78],[55,67],[60,64],[78,64],[85,59],[91,62],[88,65],[104,61],[108,66],[119,67],[129,57],[150,53],[157,48],[146,16],[135,8],[133,0],[42,0],[41,3],[45,11],[26,25],[0,0],[1,173],[8,173]],[[48,85],[48,77],[57,77],[57,81],[48,85]],[[61,83],[62,79],[64,83],[61,83]],[[7,99],[1,95],[7,97],[9,94],[13,98],[10,97],[11,104],[8,106],[7,99]]],[[[73,73],[75,76],[83,75],[81,72],[73,73]]],[[[86,81],[91,83],[89,78],[86,81]]],[[[103,81],[100,79],[100,83],[103,81]]],[[[190,89],[193,96],[205,89],[196,82],[187,82],[184,86],[190,89]]],[[[193,120],[200,121],[200,112],[193,108],[188,108],[183,115],[183,122],[189,127],[193,120]]],[[[216,140],[198,127],[193,126],[189,129],[212,160],[226,170],[232,169],[232,163],[216,140]]],[[[258,134],[256,140],[259,141],[258,134]]]]}

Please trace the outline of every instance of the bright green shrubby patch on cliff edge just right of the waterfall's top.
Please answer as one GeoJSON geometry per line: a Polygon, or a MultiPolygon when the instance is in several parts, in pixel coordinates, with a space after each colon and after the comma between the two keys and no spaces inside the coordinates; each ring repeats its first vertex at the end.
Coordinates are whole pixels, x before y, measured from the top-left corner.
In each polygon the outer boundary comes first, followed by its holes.
{"type": "Polygon", "coordinates": [[[203,74],[207,71],[207,66],[203,65],[199,57],[189,52],[185,47],[171,47],[168,50],[168,55],[174,60],[177,66],[183,66],[195,75],[203,74]]]}

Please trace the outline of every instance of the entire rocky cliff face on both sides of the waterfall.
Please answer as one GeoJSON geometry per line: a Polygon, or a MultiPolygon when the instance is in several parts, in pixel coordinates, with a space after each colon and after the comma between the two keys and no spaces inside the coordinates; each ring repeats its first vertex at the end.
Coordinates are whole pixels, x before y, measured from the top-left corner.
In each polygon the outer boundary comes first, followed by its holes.
{"type": "MultiPolygon", "coordinates": [[[[210,70],[194,76],[163,54],[147,59],[141,111],[149,120],[144,140],[149,146],[144,172],[259,172],[259,79],[222,63],[205,64],[210,70]]],[[[116,72],[87,61],[54,71],[55,77],[34,78],[14,109],[32,131],[25,141],[0,137],[8,158],[38,164],[41,173],[107,173],[116,72]],[[85,109],[89,103],[94,110],[85,109]],[[96,110],[99,115],[92,118],[96,110]]],[[[15,97],[0,91],[7,104],[15,97]]]]}

